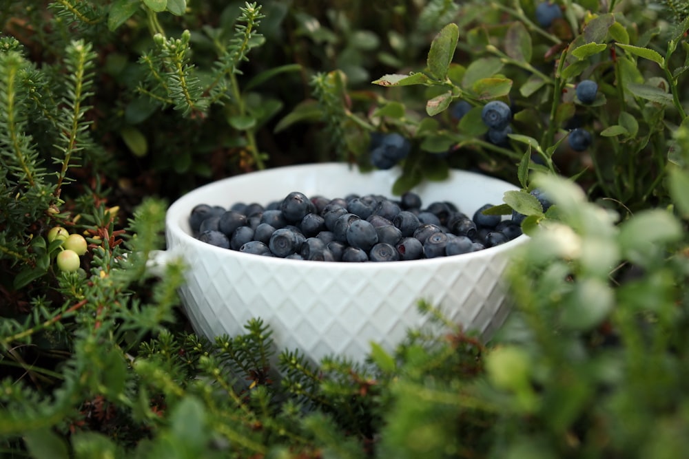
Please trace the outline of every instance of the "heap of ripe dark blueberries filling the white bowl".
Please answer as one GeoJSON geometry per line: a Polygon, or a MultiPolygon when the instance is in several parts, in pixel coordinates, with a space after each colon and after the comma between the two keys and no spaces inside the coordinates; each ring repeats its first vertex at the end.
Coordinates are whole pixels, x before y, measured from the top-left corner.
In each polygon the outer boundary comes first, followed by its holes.
{"type": "Polygon", "coordinates": [[[522,234],[515,220],[470,217],[451,202],[422,206],[416,193],[308,198],[293,191],[267,206],[198,204],[189,215],[194,237],[240,252],[313,261],[401,261],[475,252],[522,234]]]}

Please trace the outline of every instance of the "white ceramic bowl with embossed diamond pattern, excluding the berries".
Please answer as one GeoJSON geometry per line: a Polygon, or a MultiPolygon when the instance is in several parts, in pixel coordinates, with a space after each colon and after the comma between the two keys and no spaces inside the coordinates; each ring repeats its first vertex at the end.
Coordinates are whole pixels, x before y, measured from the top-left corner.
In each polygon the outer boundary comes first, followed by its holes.
{"type": "MultiPolygon", "coordinates": [[[[196,204],[268,204],[291,191],[343,198],[349,193],[392,197],[400,171],[360,173],[348,164],[282,167],[219,180],[184,195],[167,211],[167,250],[158,259],[182,257],[187,266],[180,295],[194,330],[206,337],[245,332],[251,317],[273,330],[278,352],[298,349],[313,361],[329,354],[362,361],[376,341],[393,350],[408,328],[426,325],[417,309],[425,299],[465,330],[489,339],[508,312],[500,278],[511,249],[526,236],[466,255],[345,263],[262,257],[205,244],[191,235],[196,204]]],[[[414,191],[424,204],[450,201],[472,215],[501,204],[515,186],[477,173],[451,171],[448,180],[414,191]]]]}

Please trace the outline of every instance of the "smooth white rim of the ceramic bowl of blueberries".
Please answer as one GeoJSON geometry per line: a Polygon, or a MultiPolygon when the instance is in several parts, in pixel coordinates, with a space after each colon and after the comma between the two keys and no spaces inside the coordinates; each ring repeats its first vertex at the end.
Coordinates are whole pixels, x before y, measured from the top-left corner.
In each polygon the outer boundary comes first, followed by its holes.
{"type": "MultiPolygon", "coordinates": [[[[196,239],[193,235],[187,233],[179,224],[179,219],[180,217],[183,217],[182,213],[184,209],[189,209],[190,202],[194,202],[194,196],[200,195],[205,191],[208,191],[209,189],[214,189],[218,186],[222,186],[224,183],[227,183],[229,181],[238,181],[238,180],[251,180],[251,178],[256,177],[258,174],[271,174],[271,173],[296,173],[298,171],[313,171],[315,169],[327,169],[331,167],[338,167],[342,168],[345,166],[349,167],[356,167],[356,165],[348,164],[345,162],[319,162],[319,163],[311,163],[311,164],[295,164],[295,165],[289,165],[289,166],[282,166],[282,167],[275,167],[271,169],[263,169],[260,171],[252,171],[248,173],[243,173],[240,175],[233,175],[228,178],[223,178],[220,180],[216,180],[214,182],[210,182],[207,184],[204,184],[202,186],[199,186],[196,189],[193,189],[192,191],[189,191],[185,193],[184,195],[181,195],[180,198],[175,200],[167,209],[166,214],[165,214],[165,232],[166,233],[174,233],[174,236],[176,236],[178,239],[183,241],[186,245],[191,246],[194,248],[194,250],[198,250],[200,253],[203,253],[205,250],[209,250],[210,253],[214,253],[214,255],[218,257],[223,257],[223,258],[229,258],[232,259],[236,257],[238,261],[246,261],[246,262],[254,262],[256,264],[265,264],[265,265],[271,265],[271,266],[281,266],[281,264],[285,264],[285,266],[302,266],[302,267],[307,267],[307,266],[327,266],[329,268],[331,267],[338,267],[338,268],[356,268],[357,270],[379,270],[381,267],[385,267],[386,269],[403,269],[407,270],[408,268],[411,268],[411,266],[417,266],[419,268],[422,268],[424,266],[435,266],[438,264],[453,264],[453,263],[464,263],[464,262],[469,262],[473,259],[480,259],[483,257],[491,257],[493,255],[497,255],[498,253],[502,253],[508,250],[512,250],[516,246],[520,246],[521,244],[524,244],[526,240],[528,239],[527,235],[520,235],[518,237],[515,237],[515,239],[512,239],[504,244],[500,244],[498,246],[493,246],[489,248],[484,248],[483,250],[477,250],[476,252],[471,252],[471,253],[464,253],[461,255],[452,255],[449,257],[435,257],[435,258],[424,258],[424,259],[414,259],[414,260],[405,260],[405,261],[395,261],[395,262],[360,262],[360,263],[347,263],[345,261],[313,261],[313,260],[302,260],[302,259],[288,259],[288,258],[281,258],[281,257],[269,257],[269,256],[263,256],[263,255],[255,255],[251,253],[243,253],[239,252],[238,250],[231,250],[227,248],[220,248],[213,246],[211,244],[207,244],[205,242],[201,242],[200,240],[196,239]]],[[[375,171],[373,171],[375,172],[375,171]]],[[[390,170],[383,171],[384,173],[390,173],[390,170]]],[[[362,172],[366,173],[366,172],[362,172]]],[[[506,190],[508,189],[514,189],[517,190],[517,186],[506,182],[504,180],[500,180],[498,178],[490,177],[489,175],[482,175],[480,173],[475,173],[471,171],[464,171],[460,169],[451,169],[451,175],[473,175],[482,178],[482,180],[486,180],[489,182],[500,182],[501,185],[504,185],[506,190]]],[[[449,179],[448,179],[449,180],[449,179]]],[[[432,183],[432,182],[430,182],[432,183]]],[[[430,183],[426,183],[427,185],[430,183]]],[[[392,194],[392,193],[389,193],[392,194]]],[[[201,204],[200,202],[195,202],[194,205],[196,204],[201,204]]],[[[169,238],[168,239],[168,244],[169,244],[169,238]]],[[[169,250],[170,248],[168,248],[169,250]]],[[[174,247],[172,247],[174,249],[174,247]]]]}

